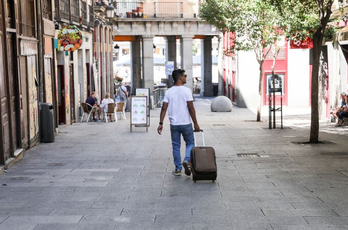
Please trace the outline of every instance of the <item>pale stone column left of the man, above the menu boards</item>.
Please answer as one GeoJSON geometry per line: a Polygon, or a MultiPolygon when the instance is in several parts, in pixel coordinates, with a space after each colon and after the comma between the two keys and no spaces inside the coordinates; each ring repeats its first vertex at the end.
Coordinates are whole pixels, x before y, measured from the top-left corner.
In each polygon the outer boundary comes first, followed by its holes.
{"type": "Polygon", "coordinates": [[[150,95],[153,95],[154,91],[154,37],[143,36],[142,46],[142,76],[144,88],[150,89],[150,95]]]}

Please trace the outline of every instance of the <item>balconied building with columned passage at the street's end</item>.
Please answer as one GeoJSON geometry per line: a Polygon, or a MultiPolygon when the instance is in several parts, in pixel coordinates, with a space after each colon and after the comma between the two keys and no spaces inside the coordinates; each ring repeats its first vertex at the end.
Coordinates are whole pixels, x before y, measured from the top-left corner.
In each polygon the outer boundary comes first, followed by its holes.
{"type": "MultiPolygon", "coordinates": [[[[202,39],[201,95],[213,96],[212,91],[212,38],[220,31],[198,18],[199,0],[169,1],[113,1],[115,17],[114,41],[130,41],[132,59],[132,91],[135,88],[154,90],[154,37],[165,38],[165,56],[174,68],[184,68],[187,87],[193,90],[192,41],[202,39]],[[178,46],[177,43],[180,45],[178,46]],[[177,47],[180,62],[177,63],[177,47]]],[[[164,75],[165,76],[165,75],[164,75]]],[[[171,86],[169,75],[168,86],[171,86]]]]}

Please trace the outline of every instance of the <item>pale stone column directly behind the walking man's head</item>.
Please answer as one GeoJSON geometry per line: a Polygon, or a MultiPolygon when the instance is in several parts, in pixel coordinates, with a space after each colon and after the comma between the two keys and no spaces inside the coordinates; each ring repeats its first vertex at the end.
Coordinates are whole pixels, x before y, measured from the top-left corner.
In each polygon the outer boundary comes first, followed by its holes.
{"type": "Polygon", "coordinates": [[[187,75],[185,86],[191,90],[193,90],[192,38],[191,35],[182,35],[180,39],[181,68],[187,75]]]}

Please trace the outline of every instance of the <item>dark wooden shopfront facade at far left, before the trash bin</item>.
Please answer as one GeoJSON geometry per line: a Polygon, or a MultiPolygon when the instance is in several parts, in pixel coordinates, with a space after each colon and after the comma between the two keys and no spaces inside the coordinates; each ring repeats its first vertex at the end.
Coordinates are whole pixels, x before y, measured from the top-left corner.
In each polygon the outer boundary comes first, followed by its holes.
{"type": "Polygon", "coordinates": [[[53,4],[0,1],[2,168],[39,142],[40,104],[55,103],[53,4]]]}

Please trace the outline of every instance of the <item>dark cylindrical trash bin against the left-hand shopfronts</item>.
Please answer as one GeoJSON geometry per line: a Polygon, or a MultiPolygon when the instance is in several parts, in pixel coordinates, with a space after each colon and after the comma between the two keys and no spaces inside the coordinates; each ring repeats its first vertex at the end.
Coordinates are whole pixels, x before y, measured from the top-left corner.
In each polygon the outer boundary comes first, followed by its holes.
{"type": "Polygon", "coordinates": [[[41,142],[54,142],[54,112],[51,103],[42,103],[40,107],[41,142]]]}

